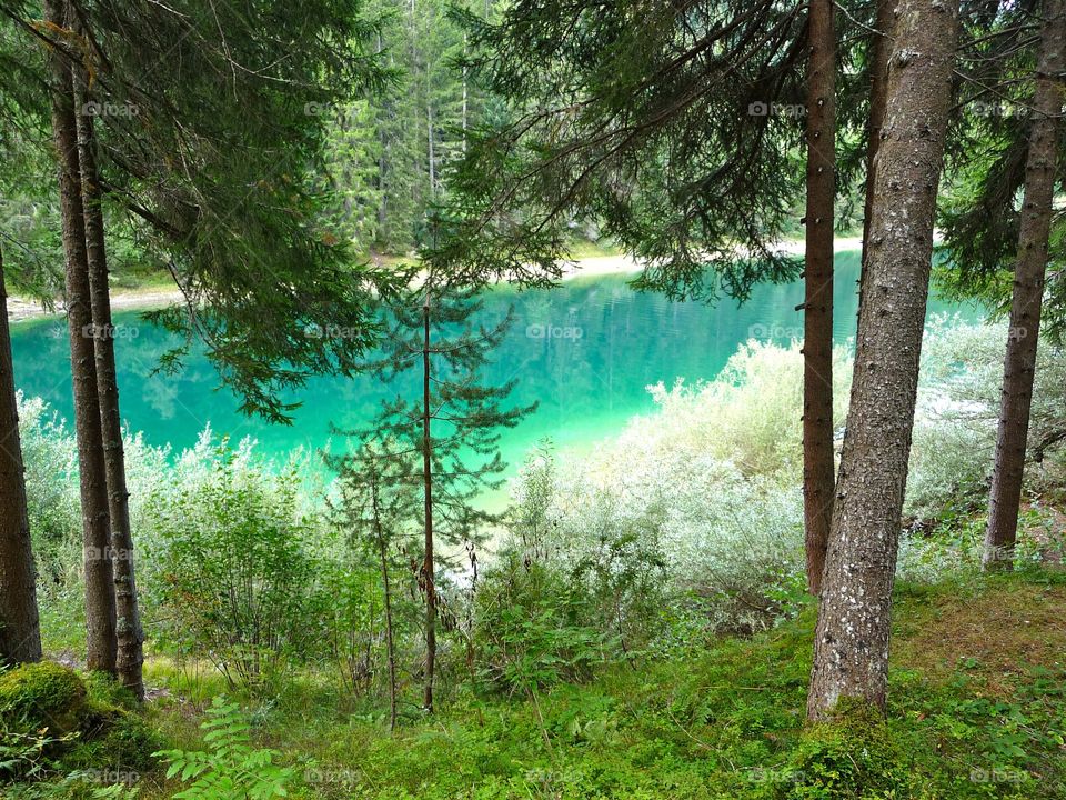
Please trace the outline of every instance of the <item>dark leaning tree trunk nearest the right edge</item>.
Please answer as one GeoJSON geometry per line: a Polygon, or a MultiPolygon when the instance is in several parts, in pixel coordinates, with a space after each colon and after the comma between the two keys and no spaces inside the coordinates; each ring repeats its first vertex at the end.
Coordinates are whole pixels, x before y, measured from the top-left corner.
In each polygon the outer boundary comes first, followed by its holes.
{"type": "Polygon", "coordinates": [[[1063,0],[1047,0],[1044,3],[1044,31],[1036,70],[1029,151],[1025,162],[1025,198],[1022,201],[1018,257],[1010,300],[1010,328],[1003,363],[999,434],[992,492],[988,496],[988,527],[985,530],[983,559],[985,569],[1010,569],[1014,566],[1055,194],[1058,118],[1064,100],[1064,11],[1066,4],[1063,0]]]}

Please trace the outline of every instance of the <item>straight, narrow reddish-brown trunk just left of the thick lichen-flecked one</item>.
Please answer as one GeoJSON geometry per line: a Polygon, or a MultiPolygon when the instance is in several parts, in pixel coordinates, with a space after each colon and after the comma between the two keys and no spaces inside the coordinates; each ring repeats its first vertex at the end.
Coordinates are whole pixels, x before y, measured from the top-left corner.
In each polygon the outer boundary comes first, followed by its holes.
{"type": "Polygon", "coordinates": [[[833,201],[836,40],[833,0],[807,20],[807,207],[803,336],[803,506],[807,588],[817,594],[833,519],[833,201]]]}

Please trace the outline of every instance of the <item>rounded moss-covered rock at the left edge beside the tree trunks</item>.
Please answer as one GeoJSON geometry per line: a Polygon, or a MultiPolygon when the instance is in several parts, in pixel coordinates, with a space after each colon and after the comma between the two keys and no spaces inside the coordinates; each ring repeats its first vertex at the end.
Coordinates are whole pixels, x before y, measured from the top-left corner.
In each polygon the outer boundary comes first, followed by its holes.
{"type": "Polygon", "coordinates": [[[66,736],[81,727],[87,698],[78,673],[52,661],[0,674],[0,719],[13,727],[66,736]]]}

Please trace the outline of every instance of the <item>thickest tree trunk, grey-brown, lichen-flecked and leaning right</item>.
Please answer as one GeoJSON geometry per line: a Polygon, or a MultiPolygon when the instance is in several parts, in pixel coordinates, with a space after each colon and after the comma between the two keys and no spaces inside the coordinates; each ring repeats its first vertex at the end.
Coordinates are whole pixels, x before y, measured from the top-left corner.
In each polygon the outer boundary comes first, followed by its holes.
{"type": "Polygon", "coordinates": [[[903,0],[858,317],[855,372],[822,583],[811,719],[884,709],[892,589],[951,103],[958,0],[903,0]]]}

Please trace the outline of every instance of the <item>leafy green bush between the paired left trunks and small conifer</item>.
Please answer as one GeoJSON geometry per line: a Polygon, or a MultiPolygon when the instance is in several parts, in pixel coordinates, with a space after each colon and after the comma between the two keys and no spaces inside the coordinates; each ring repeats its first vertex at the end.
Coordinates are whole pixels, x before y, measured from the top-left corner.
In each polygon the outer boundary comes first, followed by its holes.
{"type": "Polygon", "coordinates": [[[149,512],[147,586],[174,643],[204,653],[231,684],[261,688],[313,651],[313,520],[300,513],[294,469],[273,473],[250,442],[184,453],[177,488],[149,512]]]}

